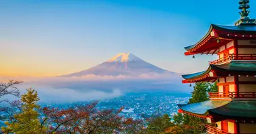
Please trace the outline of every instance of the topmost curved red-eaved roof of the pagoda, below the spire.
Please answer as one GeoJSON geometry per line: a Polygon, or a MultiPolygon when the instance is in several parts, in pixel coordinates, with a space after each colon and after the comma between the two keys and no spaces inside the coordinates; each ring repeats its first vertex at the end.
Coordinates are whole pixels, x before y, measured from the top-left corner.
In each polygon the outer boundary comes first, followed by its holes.
{"type": "Polygon", "coordinates": [[[256,25],[216,25],[211,24],[207,34],[192,46],[185,47],[185,55],[217,54],[220,46],[226,45],[232,39],[255,39],[256,25]],[[217,42],[218,40],[218,42],[217,42]]]}

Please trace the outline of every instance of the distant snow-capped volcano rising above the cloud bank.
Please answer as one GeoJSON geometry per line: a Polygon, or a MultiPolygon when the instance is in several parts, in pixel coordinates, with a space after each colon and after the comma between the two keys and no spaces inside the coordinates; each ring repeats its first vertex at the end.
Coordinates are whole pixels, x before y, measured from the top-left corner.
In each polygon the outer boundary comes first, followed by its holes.
{"type": "Polygon", "coordinates": [[[131,53],[120,53],[110,60],[83,70],[81,72],[75,72],[72,74],[63,75],[65,77],[72,76],[86,76],[88,74],[94,74],[96,76],[139,76],[141,74],[176,74],[162,68],[158,68],[153,64],[150,64],[144,60],[141,60],[137,56],[131,53]]]}

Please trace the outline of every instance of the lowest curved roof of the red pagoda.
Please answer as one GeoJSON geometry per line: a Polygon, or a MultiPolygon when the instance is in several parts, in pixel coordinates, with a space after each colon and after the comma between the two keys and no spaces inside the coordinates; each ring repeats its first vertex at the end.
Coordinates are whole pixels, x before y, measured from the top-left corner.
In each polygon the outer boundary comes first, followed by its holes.
{"type": "Polygon", "coordinates": [[[207,100],[201,103],[178,105],[178,107],[189,115],[213,117],[214,121],[256,119],[256,100],[207,100]]]}

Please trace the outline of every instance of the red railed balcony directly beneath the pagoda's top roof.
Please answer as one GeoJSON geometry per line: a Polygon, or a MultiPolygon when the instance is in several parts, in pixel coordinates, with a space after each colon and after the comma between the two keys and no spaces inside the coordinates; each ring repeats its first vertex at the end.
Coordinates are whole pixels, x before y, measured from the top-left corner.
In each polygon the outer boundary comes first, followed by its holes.
{"type": "Polygon", "coordinates": [[[214,60],[210,64],[222,64],[230,60],[256,60],[256,54],[228,54],[228,56],[214,60]]]}

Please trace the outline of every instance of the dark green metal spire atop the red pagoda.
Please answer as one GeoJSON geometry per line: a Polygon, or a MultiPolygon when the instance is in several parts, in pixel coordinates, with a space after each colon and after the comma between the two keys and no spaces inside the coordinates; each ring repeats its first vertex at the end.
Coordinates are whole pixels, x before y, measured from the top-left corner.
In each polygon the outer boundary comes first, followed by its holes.
{"type": "Polygon", "coordinates": [[[236,21],[236,23],[234,25],[248,25],[248,24],[256,24],[255,19],[250,19],[249,13],[250,11],[248,11],[247,9],[250,8],[250,5],[248,4],[250,3],[249,0],[240,0],[239,1],[239,9],[241,9],[242,11],[240,11],[240,15],[241,15],[241,19],[239,19],[238,21],[236,21]]]}

